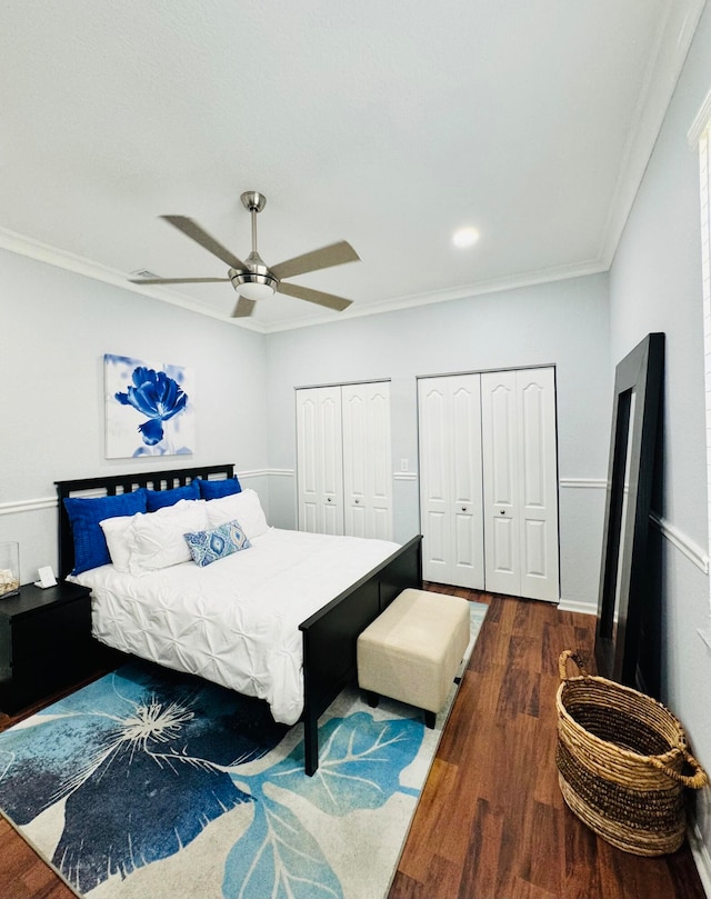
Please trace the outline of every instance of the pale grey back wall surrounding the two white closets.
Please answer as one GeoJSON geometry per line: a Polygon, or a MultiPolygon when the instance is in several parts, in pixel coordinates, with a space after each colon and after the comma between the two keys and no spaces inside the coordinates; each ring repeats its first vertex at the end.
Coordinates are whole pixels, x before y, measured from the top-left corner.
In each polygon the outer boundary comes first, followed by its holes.
{"type": "Polygon", "coordinates": [[[403,541],[420,529],[417,377],[553,363],[562,597],[570,608],[597,607],[612,392],[608,312],[608,278],[599,274],[270,334],[270,469],[280,472],[273,523],[296,527],[296,387],[391,379],[394,539],[403,541]]]}

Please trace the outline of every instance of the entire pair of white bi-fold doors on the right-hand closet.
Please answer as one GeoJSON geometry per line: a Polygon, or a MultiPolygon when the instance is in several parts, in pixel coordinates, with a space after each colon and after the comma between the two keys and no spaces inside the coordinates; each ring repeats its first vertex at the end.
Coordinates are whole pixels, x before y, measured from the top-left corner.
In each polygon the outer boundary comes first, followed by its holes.
{"type": "Polygon", "coordinates": [[[419,380],[427,580],[557,601],[550,367],[419,380]]]}

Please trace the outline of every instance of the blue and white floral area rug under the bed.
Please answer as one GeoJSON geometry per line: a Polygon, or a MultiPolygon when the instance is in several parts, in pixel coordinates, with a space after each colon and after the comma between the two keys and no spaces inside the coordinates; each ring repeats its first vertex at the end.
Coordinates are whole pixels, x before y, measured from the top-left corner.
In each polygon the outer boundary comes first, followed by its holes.
{"type": "Polygon", "coordinates": [[[434,730],[343,692],[309,778],[301,726],[130,663],[0,733],[0,809],[89,899],[379,899],[455,692],[434,730]]]}

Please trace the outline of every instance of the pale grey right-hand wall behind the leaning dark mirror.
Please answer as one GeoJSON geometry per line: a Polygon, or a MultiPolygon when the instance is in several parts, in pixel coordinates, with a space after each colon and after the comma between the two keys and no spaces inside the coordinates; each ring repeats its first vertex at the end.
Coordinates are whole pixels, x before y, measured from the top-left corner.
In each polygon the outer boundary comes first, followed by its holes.
{"type": "MultiPolygon", "coordinates": [[[[711,89],[711,9],[701,17],[610,277],[613,363],[650,331],[665,338],[662,688],[711,772],[707,460],[699,163],[687,133],[711,89]]],[[[698,797],[711,885],[711,792],[698,797]]]]}

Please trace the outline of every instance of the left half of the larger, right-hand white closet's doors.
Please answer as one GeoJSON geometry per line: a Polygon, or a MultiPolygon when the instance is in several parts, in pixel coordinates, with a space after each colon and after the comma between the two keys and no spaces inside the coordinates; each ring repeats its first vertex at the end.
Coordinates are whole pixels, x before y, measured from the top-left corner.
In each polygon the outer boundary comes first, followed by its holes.
{"type": "Polygon", "coordinates": [[[480,376],[418,382],[425,580],[483,589],[480,376]]]}

